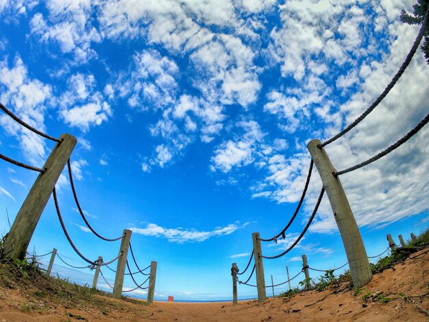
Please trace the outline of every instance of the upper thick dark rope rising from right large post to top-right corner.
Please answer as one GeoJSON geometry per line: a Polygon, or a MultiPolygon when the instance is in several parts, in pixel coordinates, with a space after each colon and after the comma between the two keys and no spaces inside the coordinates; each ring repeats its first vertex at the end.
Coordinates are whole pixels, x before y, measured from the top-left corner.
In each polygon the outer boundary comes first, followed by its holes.
{"type": "Polygon", "coordinates": [[[386,97],[387,94],[389,94],[389,92],[391,91],[391,89],[393,88],[393,86],[395,86],[395,84],[398,81],[398,79],[400,79],[400,77],[402,76],[402,74],[404,73],[404,71],[406,70],[406,68],[408,67],[408,65],[410,64],[411,60],[413,59],[413,55],[415,54],[415,52],[419,48],[419,44],[421,42],[421,38],[424,37],[425,31],[426,31],[426,27],[428,27],[428,16],[429,16],[428,12],[429,12],[429,6],[428,6],[428,10],[426,10],[426,15],[425,15],[423,23],[421,24],[419,34],[417,34],[417,38],[415,38],[413,47],[411,47],[410,52],[408,53],[408,55],[406,55],[406,58],[405,58],[404,62],[402,63],[402,66],[400,67],[399,71],[397,71],[396,75],[393,77],[393,79],[391,80],[391,82],[389,83],[389,85],[387,85],[387,87],[384,88],[383,92],[376,99],[376,101],[374,101],[371,104],[371,106],[369,106],[369,108],[365,112],[363,112],[363,114],[360,115],[353,123],[351,123],[350,125],[348,125],[339,134],[336,134],[336,136],[333,136],[329,140],[321,143],[321,145],[319,145],[319,147],[325,147],[326,145],[334,142],[334,140],[336,140],[337,138],[341,138],[341,136],[343,136],[344,134],[346,134],[347,132],[349,132],[350,129],[352,129],[353,127],[355,127],[356,125],[358,125],[358,123],[360,123],[360,121],[362,121],[363,119],[365,119],[365,117],[369,113],[371,113],[373,111],[373,109],[378,106],[378,104],[380,104],[380,102],[384,99],[384,97],[386,97]]]}

